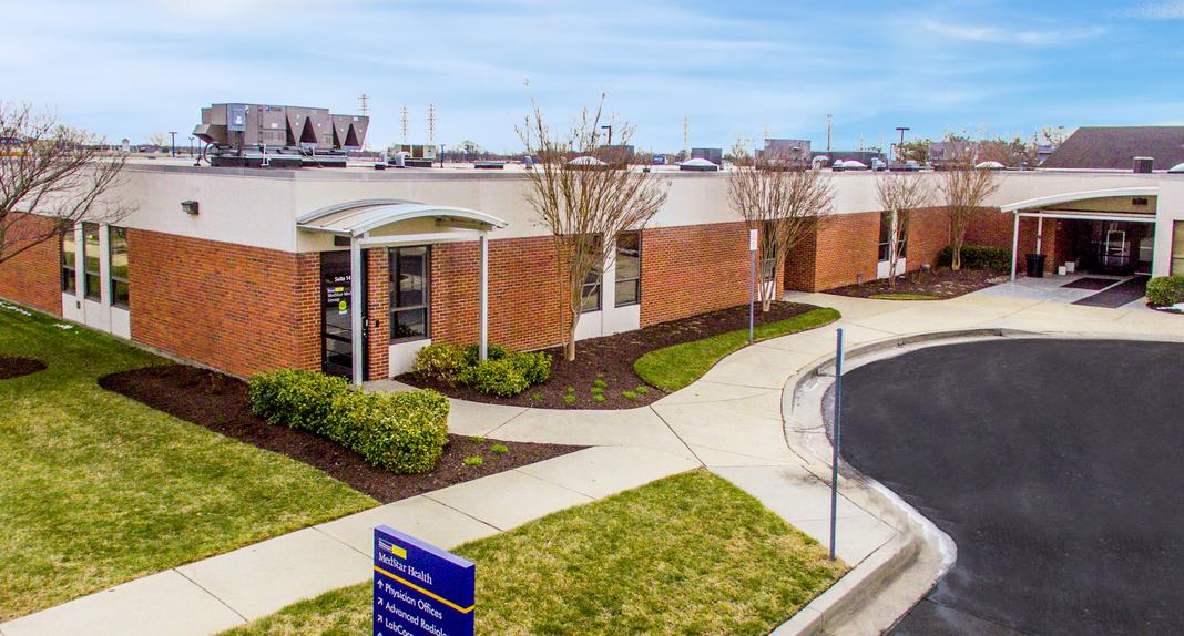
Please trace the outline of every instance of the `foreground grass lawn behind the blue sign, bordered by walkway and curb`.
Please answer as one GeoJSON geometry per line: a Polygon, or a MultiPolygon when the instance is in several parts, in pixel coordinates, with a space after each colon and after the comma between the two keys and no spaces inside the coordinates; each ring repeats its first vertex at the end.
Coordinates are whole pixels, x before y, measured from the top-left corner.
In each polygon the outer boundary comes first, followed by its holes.
{"type": "MultiPolygon", "coordinates": [[[[826,550],[704,470],[461,546],[477,634],[768,634],[844,571],[826,550]]],[[[225,636],[371,634],[371,584],[225,636]]]]}

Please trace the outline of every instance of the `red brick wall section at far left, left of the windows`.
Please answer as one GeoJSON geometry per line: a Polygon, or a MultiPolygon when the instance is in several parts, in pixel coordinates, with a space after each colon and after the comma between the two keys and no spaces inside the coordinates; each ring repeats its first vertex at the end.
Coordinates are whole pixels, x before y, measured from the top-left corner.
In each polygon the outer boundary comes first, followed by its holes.
{"type": "MultiPolygon", "coordinates": [[[[12,212],[5,232],[5,253],[33,243],[53,220],[12,212]]],[[[78,264],[82,266],[82,263],[78,264]]],[[[62,315],[62,243],[54,237],[25,249],[0,263],[0,297],[62,315]]]]}

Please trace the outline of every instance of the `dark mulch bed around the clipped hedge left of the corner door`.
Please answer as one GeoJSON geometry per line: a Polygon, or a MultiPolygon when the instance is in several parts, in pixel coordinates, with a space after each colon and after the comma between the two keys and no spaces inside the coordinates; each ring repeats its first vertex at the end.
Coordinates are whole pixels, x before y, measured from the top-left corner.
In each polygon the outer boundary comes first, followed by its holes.
{"type": "Polygon", "coordinates": [[[583,447],[529,444],[523,442],[475,441],[449,435],[436,469],[419,475],[397,475],[374,468],[355,452],[308,431],[268,424],[251,412],[246,383],[237,378],[191,367],[166,365],[124,371],[99,378],[99,386],[127,396],[153,409],[205,426],[239,442],[287,455],[314,465],[353,488],[387,503],[455,483],[565,455],[583,447]],[[509,452],[489,450],[503,444],[509,452]],[[465,457],[480,455],[484,464],[468,467],[465,457]]]}

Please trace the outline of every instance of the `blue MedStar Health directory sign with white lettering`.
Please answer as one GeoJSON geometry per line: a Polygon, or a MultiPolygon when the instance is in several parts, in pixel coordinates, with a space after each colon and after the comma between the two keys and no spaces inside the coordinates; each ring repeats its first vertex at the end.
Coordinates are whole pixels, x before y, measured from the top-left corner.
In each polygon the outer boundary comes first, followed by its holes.
{"type": "Polygon", "coordinates": [[[374,636],[472,636],[472,561],[374,528],[374,636]]]}

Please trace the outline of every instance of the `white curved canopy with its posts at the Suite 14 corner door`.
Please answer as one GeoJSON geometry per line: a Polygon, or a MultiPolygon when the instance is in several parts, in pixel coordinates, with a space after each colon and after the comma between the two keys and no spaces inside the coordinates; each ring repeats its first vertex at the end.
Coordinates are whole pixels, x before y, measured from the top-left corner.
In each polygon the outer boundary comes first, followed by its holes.
{"type": "MultiPolygon", "coordinates": [[[[366,379],[365,367],[365,308],[367,289],[362,250],[373,248],[426,246],[438,243],[476,240],[480,258],[475,265],[480,272],[478,343],[481,359],[485,359],[489,342],[489,238],[493,230],[506,227],[506,221],[463,207],[438,206],[398,199],[365,199],[323,207],[296,219],[300,230],[333,235],[336,245],[349,245],[349,301],[348,340],[350,352],[350,379],[361,384],[366,379]],[[350,307],[352,306],[352,307],[350,307]]],[[[424,261],[426,266],[426,259],[424,261]]],[[[407,277],[423,276],[408,274],[407,277]]],[[[416,281],[406,281],[416,284],[416,281]]],[[[403,284],[404,281],[395,281],[403,284]]],[[[419,294],[429,296],[427,285],[422,284],[419,294]]],[[[423,298],[430,304],[430,297],[423,298]]],[[[345,311],[345,310],[343,310],[345,311]]],[[[427,311],[424,313],[425,316],[427,311]]],[[[326,319],[322,319],[326,320],[326,319]]]]}

